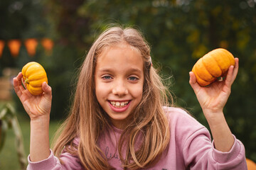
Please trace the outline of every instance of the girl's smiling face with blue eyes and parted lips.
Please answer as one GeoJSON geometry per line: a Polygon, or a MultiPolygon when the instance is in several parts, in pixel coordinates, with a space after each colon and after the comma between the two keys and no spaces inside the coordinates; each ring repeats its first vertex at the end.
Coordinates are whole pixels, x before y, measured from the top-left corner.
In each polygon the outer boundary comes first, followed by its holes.
{"type": "Polygon", "coordinates": [[[129,115],[142,100],[143,82],[142,56],[131,46],[124,43],[114,45],[97,57],[97,101],[115,127],[124,128],[129,123],[129,115]]]}

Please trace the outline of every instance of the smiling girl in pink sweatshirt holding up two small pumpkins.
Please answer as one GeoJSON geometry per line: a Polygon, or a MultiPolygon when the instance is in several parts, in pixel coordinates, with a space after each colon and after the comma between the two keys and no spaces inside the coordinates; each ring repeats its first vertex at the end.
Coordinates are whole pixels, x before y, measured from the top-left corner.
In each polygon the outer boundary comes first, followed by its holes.
{"type": "Polygon", "coordinates": [[[223,115],[238,58],[225,81],[208,87],[190,80],[208,130],[181,108],[169,106],[166,88],[152,66],[149,45],[133,28],[109,28],[94,42],[80,68],[75,99],[49,147],[51,88],[32,96],[14,89],[31,118],[28,169],[247,169],[245,148],[223,115]]]}

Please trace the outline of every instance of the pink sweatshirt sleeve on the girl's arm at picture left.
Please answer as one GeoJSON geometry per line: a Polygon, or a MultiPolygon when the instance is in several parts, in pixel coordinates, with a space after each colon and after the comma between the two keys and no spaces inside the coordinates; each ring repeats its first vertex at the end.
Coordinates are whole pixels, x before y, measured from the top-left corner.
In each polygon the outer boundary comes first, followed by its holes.
{"type": "Polygon", "coordinates": [[[50,150],[50,156],[47,159],[44,159],[40,162],[31,162],[28,155],[28,167],[27,170],[76,170],[82,169],[80,160],[78,157],[73,156],[68,152],[63,152],[60,154],[60,159],[63,161],[63,164],[60,163],[60,160],[53,155],[53,151],[50,150]]]}

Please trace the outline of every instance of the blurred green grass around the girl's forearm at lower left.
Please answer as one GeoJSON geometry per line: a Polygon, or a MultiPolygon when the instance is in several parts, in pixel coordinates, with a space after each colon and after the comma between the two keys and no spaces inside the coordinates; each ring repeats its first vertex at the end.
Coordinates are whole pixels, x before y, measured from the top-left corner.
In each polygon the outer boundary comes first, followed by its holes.
{"type": "MultiPolygon", "coordinates": [[[[26,157],[29,154],[29,144],[30,144],[30,121],[26,118],[18,116],[18,121],[21,126],[21,131],[23,135],[23,144],[26,152],[26,157]]],[[[50,122],[50,141],[53,140],[53,135],[58,129],[59,123],[51,121],[50,122]]],[[[4,142],[4,148],[0,152],[0,169],[1,170],[18,170],[20,166],[18,164],[18,156],[15,146],[15,136],[12,129],[9,129],[6,133],[6,140],[4,142]]]]}

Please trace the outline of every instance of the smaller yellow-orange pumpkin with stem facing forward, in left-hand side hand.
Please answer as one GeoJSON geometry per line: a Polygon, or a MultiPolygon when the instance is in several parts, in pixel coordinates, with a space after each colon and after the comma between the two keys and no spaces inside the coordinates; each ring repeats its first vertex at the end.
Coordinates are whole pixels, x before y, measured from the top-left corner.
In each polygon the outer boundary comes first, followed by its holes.
{"type": "Polygon", "coordinates": [[[28,64],[22,68],[21,72],[26,84],[26,89],[33,95],[43,94],[42,84],[43,81],[48,83],[48,79],[46,71],[41,64],[37,62],[28,62],[28,64]]]}

